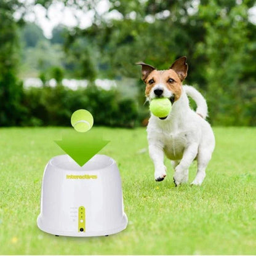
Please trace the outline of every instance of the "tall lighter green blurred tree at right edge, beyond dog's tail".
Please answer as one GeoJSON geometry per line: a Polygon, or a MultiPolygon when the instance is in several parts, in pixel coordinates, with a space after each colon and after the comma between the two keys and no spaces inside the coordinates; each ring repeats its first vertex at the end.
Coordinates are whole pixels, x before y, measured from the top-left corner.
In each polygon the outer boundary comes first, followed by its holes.
{"type": "MultiPolygon", "coordinates": [[[[248,21],[248,9],[252,2],[236,4],[236,1],[206,1],[199,6],[199,18],[204,20],[206,35],[198,42],[196,53],[206,58],[204,79],[210,114],[214,124],[252,125],[255,118],[246,119],[244,102],[256,98],[244,82],[256,87],[254,70],[255,26],[248,21]],[[245,94],[246,90],[251,94],[245,94]],[[249,98],[248,98],[249,96],[249,98]]],[[[249,104],[250,105],[250,104],[249,104]]]]}

